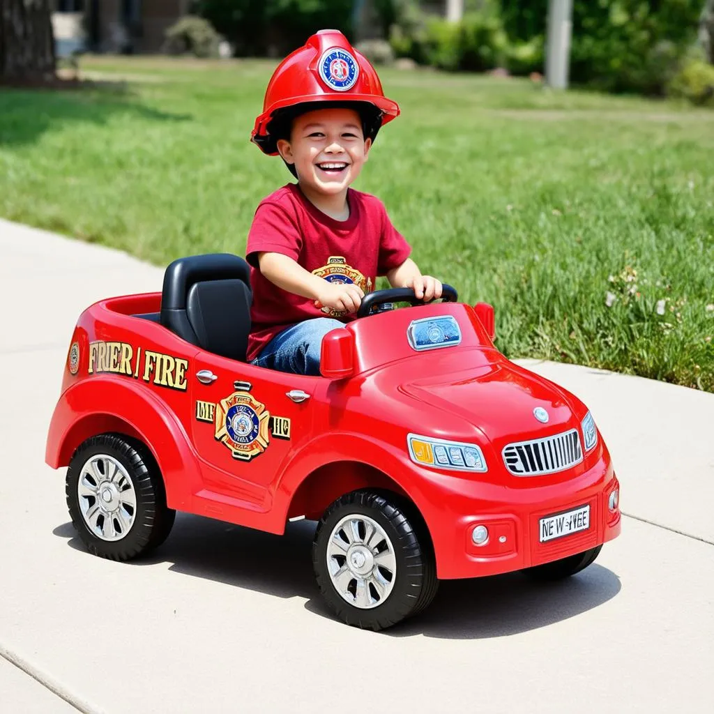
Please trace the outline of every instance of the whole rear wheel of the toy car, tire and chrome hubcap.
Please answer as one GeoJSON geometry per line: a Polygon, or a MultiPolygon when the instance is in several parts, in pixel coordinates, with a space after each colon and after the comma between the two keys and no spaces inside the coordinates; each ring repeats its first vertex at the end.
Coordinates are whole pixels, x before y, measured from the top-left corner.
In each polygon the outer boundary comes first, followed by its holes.
{"type": "Polygon", "coordinates": [[[159,467],[139,441],[93,436],[72,456],[66,476],[72,525],[87,550],[131,560],[166,540],[176,511],[166,507],[159,467]]]}

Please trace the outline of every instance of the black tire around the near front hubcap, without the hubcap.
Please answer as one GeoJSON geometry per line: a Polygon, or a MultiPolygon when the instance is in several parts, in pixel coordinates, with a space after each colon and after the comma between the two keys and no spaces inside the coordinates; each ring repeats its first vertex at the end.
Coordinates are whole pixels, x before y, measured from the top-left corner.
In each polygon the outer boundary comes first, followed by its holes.
{"type": "MultiPolygon", "coordinates": [[[[431,539],[416,517],[409,518],[408,508],[400,499],[376,491],[353,491],[341,496],[325,511],[313,540],[313,567],[318,587],[331,610],[353,627],[383,630],[416,615],[431,603],[438,588],[436,561],[431,539]],[[333,529],[350,515],[368,516],[381,526],[393,548],[396,563],[391,592],[383,603],[359,608],[345,600],[333,584],[328,570],[328,542],[333,529]]],[[[386,541],[379,543],[378,552],[386,541]]],[[[354,580],[356,583],[356,579],[354,580]]]]}

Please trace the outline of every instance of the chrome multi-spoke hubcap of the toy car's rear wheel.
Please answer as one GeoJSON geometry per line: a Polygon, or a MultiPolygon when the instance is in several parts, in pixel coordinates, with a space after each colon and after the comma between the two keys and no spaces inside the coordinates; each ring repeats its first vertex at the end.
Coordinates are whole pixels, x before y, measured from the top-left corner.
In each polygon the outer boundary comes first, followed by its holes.
{"type": "Polygon", "coordinates": [[[79,510],[87,528],[102,540],[121,540],[136,518],[136,491],[126,468],[113,456],[91,456],[77,483],[79,510]]]}

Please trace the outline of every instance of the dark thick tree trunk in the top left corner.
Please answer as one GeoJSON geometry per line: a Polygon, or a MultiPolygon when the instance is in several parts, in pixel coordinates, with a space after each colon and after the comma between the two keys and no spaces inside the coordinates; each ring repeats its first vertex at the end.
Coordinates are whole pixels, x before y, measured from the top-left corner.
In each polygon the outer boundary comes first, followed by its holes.
{"type": "Polygon", "coordinates": [[[49,0],[0,0],[0,81],[54,80],[49,0]]]}

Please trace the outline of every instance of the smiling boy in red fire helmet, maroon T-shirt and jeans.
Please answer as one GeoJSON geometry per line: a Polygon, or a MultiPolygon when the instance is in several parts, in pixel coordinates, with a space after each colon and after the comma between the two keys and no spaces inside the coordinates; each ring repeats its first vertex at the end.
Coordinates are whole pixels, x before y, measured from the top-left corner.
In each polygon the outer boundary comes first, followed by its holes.
{"type": "Polygon", "coordinates": [[[377,276],[424,301],[441,296],[381,201],[350,188],[398,114],[338,31],[313,35],[273,74],[252,140],[279,154],[298,183],[264,198],[248,233],[253,364],[319,374],[323,336],[354,318],[377,276]]]}

